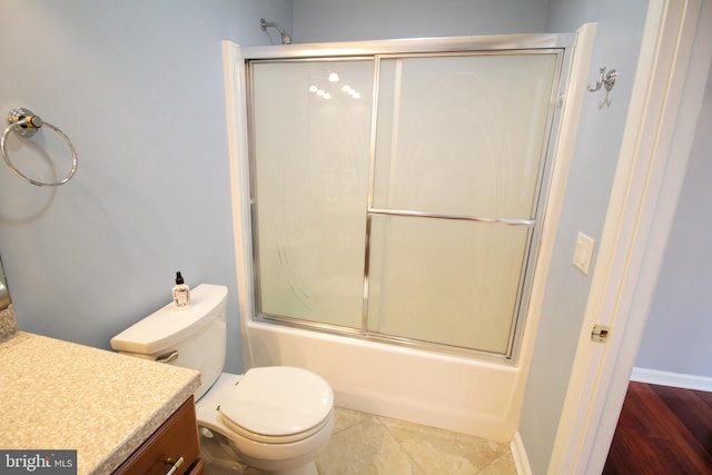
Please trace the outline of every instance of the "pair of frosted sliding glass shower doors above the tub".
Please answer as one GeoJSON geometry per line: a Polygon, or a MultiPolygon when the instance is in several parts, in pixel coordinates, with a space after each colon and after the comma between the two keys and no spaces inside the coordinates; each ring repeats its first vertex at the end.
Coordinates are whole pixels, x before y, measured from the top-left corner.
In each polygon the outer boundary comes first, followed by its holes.
{"type": "Polygon", "coordinates": [[[248,62],[257,318],[510,357],[556,49],[248,62]]]}

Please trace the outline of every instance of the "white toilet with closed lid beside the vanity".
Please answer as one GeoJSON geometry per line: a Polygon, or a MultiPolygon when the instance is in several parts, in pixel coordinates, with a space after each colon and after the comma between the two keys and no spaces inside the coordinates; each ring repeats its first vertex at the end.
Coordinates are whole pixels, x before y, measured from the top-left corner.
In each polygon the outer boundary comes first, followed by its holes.
{"type": "Polygon", "coordinates": [[[317,475],[334,428],[334,393],[291,366],[222,373],[227,287],[202,284],[192,306],[166,305],[119,335],[119,353],[200,372],[195,393],[206,474],[317,475]]]}

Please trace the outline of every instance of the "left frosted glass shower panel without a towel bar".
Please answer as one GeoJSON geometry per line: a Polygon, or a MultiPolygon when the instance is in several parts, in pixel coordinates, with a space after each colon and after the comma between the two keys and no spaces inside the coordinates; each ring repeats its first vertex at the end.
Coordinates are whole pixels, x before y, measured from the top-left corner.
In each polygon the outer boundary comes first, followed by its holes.
{"type": "Polygon", "coordinates": [[[373,61],[250,68],[258,313],[359,328],[373,61]]]}

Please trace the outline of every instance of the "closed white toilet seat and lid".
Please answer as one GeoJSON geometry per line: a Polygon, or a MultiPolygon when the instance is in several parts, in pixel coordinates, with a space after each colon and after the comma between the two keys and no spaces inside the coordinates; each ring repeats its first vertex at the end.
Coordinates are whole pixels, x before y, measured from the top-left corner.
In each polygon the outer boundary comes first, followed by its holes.
{"type": "Polygon", "coordinates": [[[287,444],[322,431],[333,418],[334,393],[320,376],[296,367],[249,369],[220,402],[226,428],[261,443],[287,444]]]}

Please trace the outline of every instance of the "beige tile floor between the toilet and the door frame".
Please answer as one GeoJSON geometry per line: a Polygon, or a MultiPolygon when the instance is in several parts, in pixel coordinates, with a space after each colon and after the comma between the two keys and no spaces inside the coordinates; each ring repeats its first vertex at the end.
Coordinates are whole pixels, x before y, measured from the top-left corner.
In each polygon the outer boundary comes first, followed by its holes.
{"type": "Polygon", "coordinates": [[[510,444],[336,408],[319,475],[516,475],[510,444]]]}

